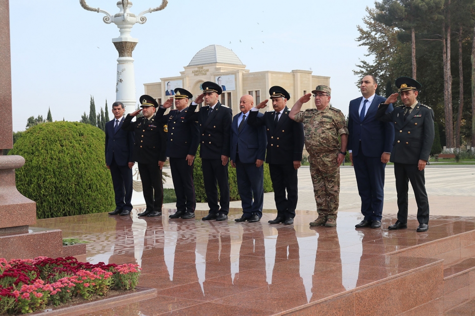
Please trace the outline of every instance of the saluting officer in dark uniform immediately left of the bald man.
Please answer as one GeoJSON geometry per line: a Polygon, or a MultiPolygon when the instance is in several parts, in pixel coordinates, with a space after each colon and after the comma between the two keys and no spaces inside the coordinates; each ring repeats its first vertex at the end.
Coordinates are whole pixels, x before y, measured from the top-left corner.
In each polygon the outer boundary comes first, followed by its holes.
{"type": "Polygon", "coordinates": [[[221,87],[211,81],[202,84],[203,94],[188,107],[185,119],[194,119],[200,129],[200,157],[203,169],[206,198],[210,212],[204,221],[225,221],[229,213],[228,160],[229,141],[233,114],[229,107],[218,101],[223,92],[221,87]],[[199,103],[205,101],[208,106],[195,112],[199,103]],[[218,182],[220,205],[218,204],[218,182]]]}

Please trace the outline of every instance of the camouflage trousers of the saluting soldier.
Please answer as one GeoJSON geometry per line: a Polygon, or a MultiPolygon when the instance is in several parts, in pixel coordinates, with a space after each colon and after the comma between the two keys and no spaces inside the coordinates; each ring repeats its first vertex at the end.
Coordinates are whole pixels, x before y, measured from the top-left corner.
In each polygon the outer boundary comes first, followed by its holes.
{"type": "Polygon", "coordinates": [[[340,195],[338,151],[325,155],[309,155],[310,176],[318,215],[336,219],[340,195]]]}

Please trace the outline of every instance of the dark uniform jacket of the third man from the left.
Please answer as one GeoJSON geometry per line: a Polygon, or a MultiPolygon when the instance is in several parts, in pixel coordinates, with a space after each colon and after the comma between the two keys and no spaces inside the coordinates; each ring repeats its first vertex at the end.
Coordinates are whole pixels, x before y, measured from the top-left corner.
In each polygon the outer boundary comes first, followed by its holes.
{"type": "Polygon", "coordinates": [[[172,158],[185,158],[186,155],[196,155],[200,141],[198,124],[193,119],[186,119],[188,108],[184,108],[179,115],[178,110],[171,110],[163,115],[165,108],[158,108],[155,114],[157,120],[168,126],[166,133],[166,156],[172,158]],[[176,115],[176,117],[175,117],[176,115]]]}

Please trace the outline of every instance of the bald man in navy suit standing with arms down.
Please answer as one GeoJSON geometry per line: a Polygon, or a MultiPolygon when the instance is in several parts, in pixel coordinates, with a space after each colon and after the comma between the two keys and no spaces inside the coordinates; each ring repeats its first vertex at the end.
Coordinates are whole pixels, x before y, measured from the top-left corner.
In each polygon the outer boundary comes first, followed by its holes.
{"type": "MultiPolygon", "coordinates": [[[[236,222],[255,223],[262,217],[264,205],[264,158],[267,145],[265,127],[246,123],[246,116],[254,106],[252,95],[243,95],[239,101],[241,112],[236,114],[231,125],[231,166],[236,168],[242,216],[236,222]],[[254,197],[254,201],[252,198],[254,197]]],[[[262,113],[257,112],[262,118],[262,113]]]]}

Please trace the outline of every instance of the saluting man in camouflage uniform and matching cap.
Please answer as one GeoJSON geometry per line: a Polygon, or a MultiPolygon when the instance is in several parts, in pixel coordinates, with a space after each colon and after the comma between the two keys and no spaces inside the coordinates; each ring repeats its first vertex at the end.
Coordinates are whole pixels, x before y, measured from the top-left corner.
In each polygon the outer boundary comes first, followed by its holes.
{"type": "Polygon", "coordinates": [[[308,93],[294,104],[289,117],[304,123],[305,147],[309,152],[318,212],[318,218],[310,226],[335,227],[340,194],[339,167],[345,160],[348,128],[343,113],[329,105],[330,87],[319,85],[312,93],[316,109],[301,111],[302,105],[310,100],[308,93]]]}

